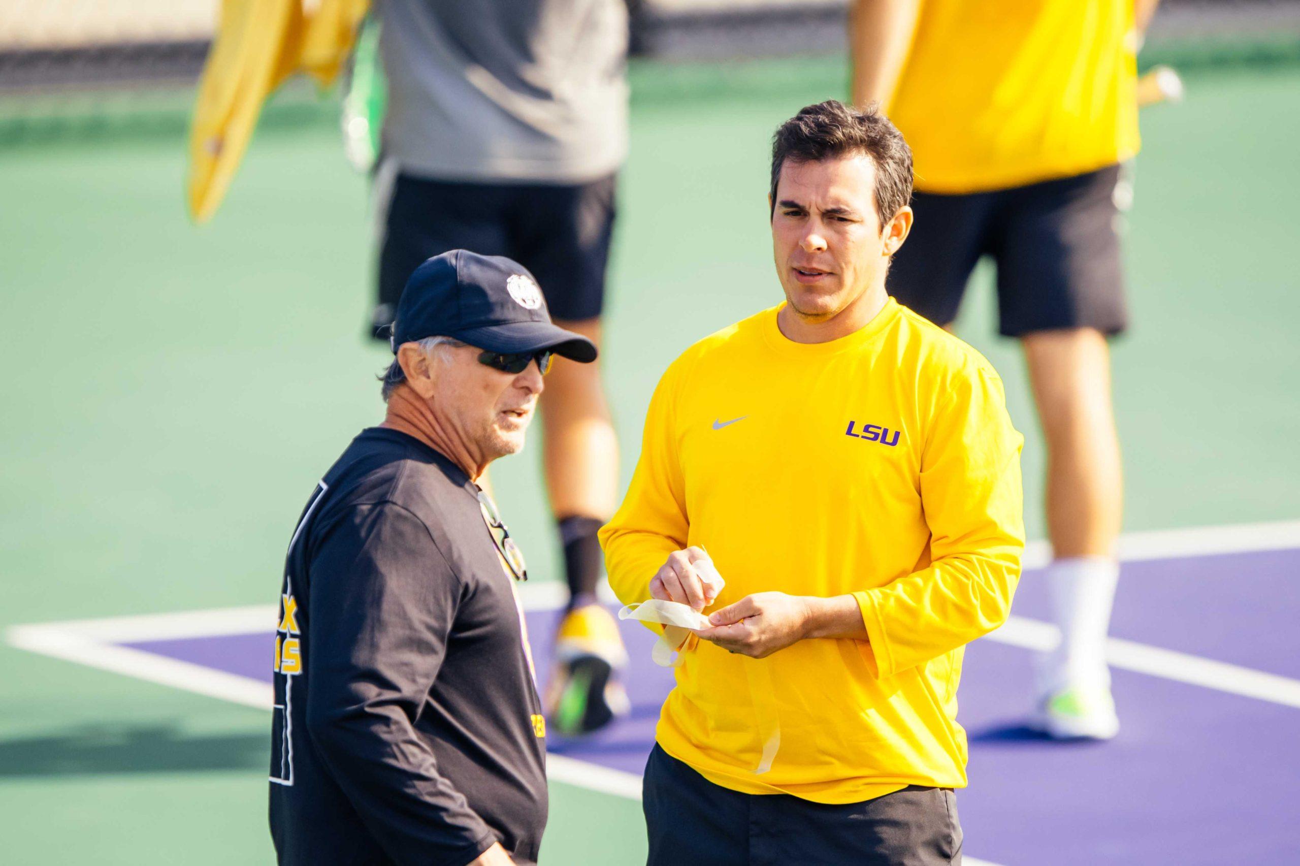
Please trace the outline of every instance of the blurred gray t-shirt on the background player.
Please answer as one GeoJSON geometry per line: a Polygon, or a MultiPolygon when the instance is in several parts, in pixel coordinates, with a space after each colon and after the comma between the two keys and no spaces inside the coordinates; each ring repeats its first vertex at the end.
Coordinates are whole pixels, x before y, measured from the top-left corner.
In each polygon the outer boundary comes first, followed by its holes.
{"type": "Polygon", "coordinates": [[[438,179],[581,183],[628,147],[624,0],[377,0],[385,156],[438,179]]]}

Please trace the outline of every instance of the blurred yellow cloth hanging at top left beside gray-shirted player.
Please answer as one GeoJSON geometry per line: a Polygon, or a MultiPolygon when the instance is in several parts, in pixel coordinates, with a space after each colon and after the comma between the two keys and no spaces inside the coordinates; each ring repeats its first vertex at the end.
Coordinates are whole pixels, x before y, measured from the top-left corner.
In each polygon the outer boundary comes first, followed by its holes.
{"type": "Polygon", "coordinates": [[[298,72],[334,81],[370,0],[222,0],[190,122],[190,216],[220,207],[266,98],[298,72]]]}

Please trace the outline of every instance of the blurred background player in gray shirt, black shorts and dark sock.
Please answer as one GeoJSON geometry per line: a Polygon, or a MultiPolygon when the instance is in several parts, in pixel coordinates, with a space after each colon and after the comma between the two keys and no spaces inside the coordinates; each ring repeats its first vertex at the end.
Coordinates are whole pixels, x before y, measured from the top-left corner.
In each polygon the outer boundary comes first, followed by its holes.
{"type": "MultiPolygon", "coordinates": [[[[556,324],[598,345],[628,150],[625,0],[376,0],[374,14],[387,86],[374,335],[417,264],[465,248],[521,263],[556,324]]],[[[569,586],[546,707],[559,733],[586,733],[628,710],[627,653],[595,603],[619,473],[597,364],[558,360],[541,413],[569,586]]]]}

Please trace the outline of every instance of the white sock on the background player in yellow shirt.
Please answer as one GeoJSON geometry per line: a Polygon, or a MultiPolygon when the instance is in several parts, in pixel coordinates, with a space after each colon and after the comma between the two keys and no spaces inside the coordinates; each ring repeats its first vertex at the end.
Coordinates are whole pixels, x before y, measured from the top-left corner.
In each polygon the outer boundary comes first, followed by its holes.
{"type": "Polygon", "coordinates": [[[1110,688],[1106,632],[1119,580],[1119,563],[1109,557],[1054,559],[1044,577],[1061,645],[1043,659],[1044,690],[1110,688]]]}

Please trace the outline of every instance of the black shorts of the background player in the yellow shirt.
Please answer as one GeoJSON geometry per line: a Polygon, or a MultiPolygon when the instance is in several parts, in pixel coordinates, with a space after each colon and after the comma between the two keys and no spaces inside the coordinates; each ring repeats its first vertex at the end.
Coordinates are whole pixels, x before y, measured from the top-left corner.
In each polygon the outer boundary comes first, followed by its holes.
{"type": "Polygon", "coordinates": [[[1062,328],[1117,334],[1128,320],[1119,228],[1131,199],[1119,165],[992,192],[915,192],[916,220],[885,285],[898,303],[946,325],[988,255],[1005,337],[1062,328]]]}

